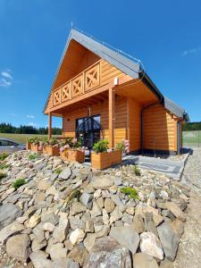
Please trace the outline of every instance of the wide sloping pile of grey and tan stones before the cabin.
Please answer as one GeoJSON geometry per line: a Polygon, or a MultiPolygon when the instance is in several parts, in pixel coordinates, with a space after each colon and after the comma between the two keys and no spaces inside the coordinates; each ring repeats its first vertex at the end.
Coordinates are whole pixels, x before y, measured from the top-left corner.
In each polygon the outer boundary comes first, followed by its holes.
{"type": "Polygon", "coordinates": [[[7,157],[0,182],[0,243],[6,254],[51,267],[172,267],[188,188],[132,165],[92,172],[59,157],[7,157]],[[26,184],[13,188],[13,181],[26,184]],[[121,188],[135,188],[130,198],[121,188]]]}

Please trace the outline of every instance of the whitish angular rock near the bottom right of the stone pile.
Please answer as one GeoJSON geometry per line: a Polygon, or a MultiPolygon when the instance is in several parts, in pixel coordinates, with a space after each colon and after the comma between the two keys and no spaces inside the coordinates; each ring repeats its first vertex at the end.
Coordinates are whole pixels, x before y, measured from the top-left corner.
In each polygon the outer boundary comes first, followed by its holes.
{"type": "Polygon", "coordinates": [[[163,260],[163,248],[160,240],[154,233],[147,231],[140,234],[140,249],[142,253],[152,255],[159,260],[163,260]]]}

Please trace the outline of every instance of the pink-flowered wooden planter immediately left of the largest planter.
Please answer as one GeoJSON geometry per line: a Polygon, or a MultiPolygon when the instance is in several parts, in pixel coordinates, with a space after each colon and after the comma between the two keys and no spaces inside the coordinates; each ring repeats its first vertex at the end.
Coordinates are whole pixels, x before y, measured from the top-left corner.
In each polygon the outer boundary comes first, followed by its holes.
{"type": "Polygon", "coordinates": [[[60,156],[66,161],[83,163],[85,161],[85,150],[84,147],[81,147],[81,139],[67,138],[60,147],[60,156]]]}

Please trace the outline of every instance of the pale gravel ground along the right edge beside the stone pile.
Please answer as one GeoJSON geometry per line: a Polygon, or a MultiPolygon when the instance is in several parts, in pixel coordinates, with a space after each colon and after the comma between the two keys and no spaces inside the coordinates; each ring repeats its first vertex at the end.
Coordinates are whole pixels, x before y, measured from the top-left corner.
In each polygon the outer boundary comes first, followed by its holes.
{"type": "Polygon", "coordinates": [[[181,181],[191,188],[187,210],[187,222],[177,258],[175,268],[201,267],[201,149],[195,149],[189,155],[188,162],[181,181]],[[198,188],[197,188],[197,186],[198,188]]]}

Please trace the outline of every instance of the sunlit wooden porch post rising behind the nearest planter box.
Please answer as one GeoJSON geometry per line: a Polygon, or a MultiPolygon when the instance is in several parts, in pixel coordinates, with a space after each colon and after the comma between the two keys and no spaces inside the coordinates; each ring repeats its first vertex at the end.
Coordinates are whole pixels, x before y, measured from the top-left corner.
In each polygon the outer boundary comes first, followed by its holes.
{"type": "Polygon", "coordinates": [[[114,147],[114,89],[109,88],[109,147],[114,147]]]}

